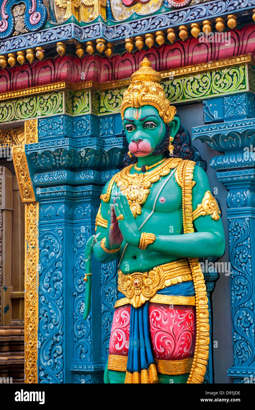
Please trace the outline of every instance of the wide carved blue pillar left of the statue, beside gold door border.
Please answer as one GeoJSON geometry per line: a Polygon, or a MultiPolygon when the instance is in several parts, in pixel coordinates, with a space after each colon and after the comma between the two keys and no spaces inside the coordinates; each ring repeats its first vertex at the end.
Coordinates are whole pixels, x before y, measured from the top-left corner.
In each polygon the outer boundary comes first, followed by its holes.
{"type": "Polygon", "coordinates": [[[84,246],[95,233],[102,187],[126,150],[116,117],[39,119],[39,142],[25,148],[39,202],[39,383],[102,383],[116,262],[92,260],[84,321],[84,246]]]}

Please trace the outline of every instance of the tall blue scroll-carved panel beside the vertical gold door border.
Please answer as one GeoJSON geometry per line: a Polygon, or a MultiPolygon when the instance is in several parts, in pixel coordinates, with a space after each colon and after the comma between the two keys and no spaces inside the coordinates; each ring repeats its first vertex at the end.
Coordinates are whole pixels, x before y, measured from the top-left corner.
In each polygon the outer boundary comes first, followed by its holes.
{"type": "Polygon", "coordinates": [[[63,230],[39,239],[39,383],[64,383],[63,230]]]}

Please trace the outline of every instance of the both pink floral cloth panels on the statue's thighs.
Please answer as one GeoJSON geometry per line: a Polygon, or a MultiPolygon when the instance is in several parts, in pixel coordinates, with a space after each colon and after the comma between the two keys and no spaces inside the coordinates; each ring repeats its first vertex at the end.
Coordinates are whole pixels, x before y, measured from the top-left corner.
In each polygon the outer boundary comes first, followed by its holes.
{"type": "MultiPolygon", "coordinates": [[[[150,335],[156,359],[181,360],[194,355],[196,314],[194,306],[149,304],[150,335]]],[[[114,310],[110,355],[128,355],[130,305],[114,310]]]]}

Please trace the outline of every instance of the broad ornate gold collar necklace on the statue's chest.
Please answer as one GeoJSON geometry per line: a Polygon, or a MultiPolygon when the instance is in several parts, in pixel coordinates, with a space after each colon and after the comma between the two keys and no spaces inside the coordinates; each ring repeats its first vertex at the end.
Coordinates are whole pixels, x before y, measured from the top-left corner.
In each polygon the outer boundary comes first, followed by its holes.
{"type": "Polygon", "coordinates": [[[180,158],[168,158],[152,171],[141,174],[130,173],[134,167],[132,164],[117,173],[114,182],[127,197],[134,218],[141,214],[141,205],[145,203],[150,193],[151,184],[157,182],[160,177],[168,175],[181,161],[180,158]]]}

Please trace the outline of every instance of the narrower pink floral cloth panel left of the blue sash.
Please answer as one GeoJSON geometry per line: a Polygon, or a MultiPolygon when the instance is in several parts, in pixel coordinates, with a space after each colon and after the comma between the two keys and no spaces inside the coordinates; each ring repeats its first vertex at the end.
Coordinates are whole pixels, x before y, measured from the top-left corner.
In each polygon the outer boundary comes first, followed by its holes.
{"type": "Polygon", "coordinates": [[[130,305],[125,305],[114,310],[109,355],[128,355],[130,307],[130,305]]]}

